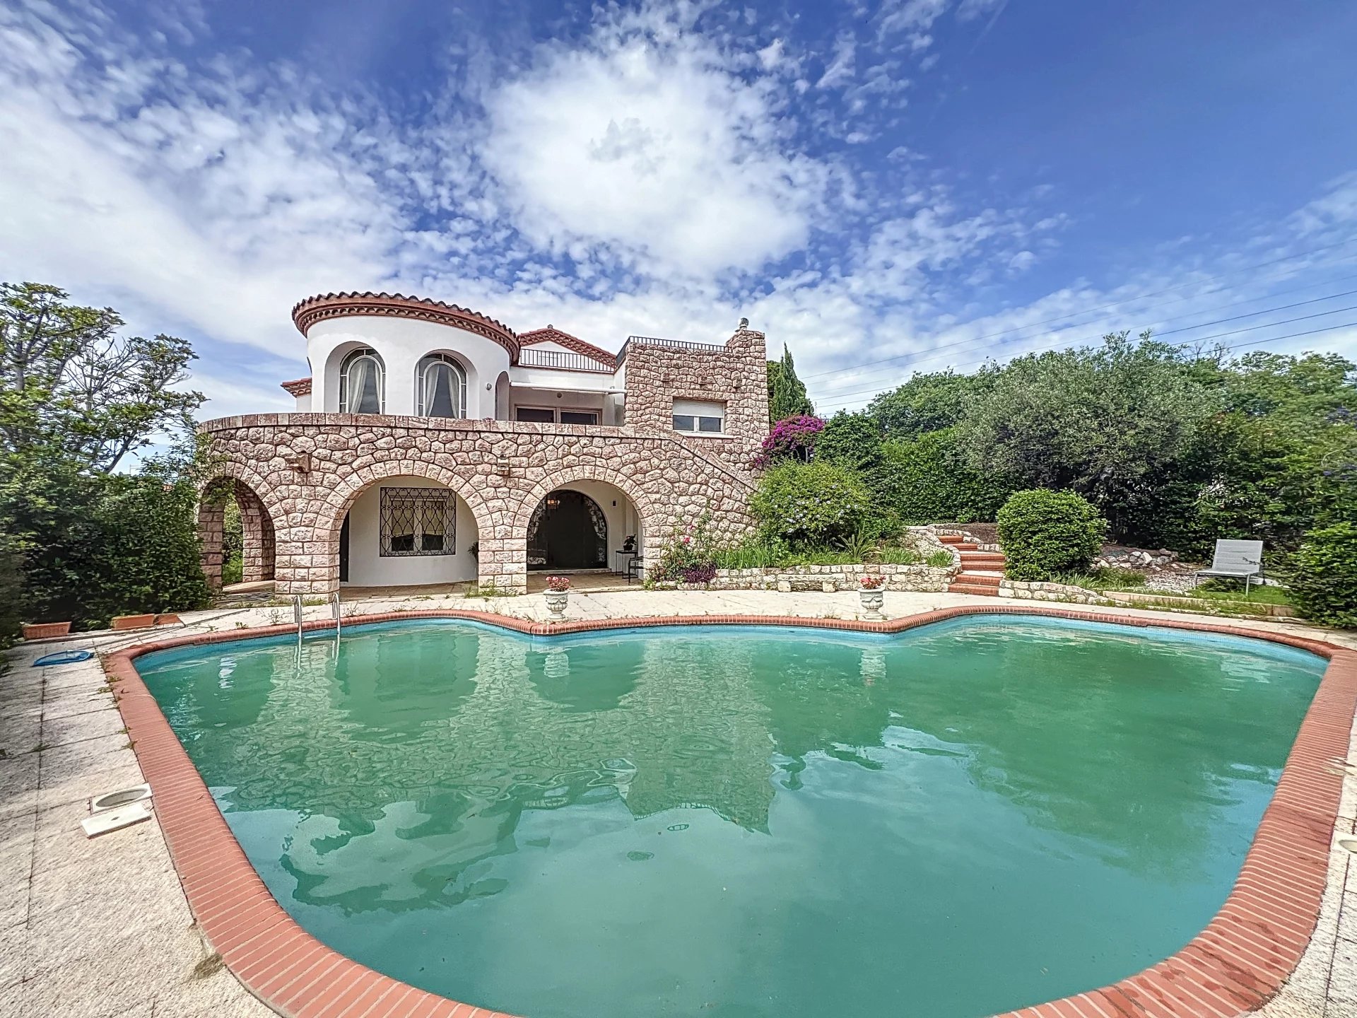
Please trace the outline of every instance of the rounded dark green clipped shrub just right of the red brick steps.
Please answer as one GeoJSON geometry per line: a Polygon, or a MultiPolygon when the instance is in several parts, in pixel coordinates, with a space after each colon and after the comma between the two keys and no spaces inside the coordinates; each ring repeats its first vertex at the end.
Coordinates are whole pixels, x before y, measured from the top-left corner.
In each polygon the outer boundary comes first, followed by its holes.
{"type": "Polygon", "coordinates": [[[999,542],[1012,580],[1082,571],[1102,550],[1107,521],[1073,491],[1015,491],[999,510],[999,542]]]}

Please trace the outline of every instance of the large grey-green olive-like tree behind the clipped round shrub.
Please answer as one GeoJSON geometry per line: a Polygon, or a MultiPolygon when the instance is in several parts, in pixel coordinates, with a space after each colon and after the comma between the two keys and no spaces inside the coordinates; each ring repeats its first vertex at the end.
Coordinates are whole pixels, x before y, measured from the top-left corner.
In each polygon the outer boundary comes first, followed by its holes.
{"type": "Polygon", "coordinates": [[[1071,489],[1118,539],[1152,512],[1158,486],[1217,413],[1220,395],[1190,377],[1179,350],[1149,333],[1101,347],[1027,354],[995,371],[966,403],[958,440],[977,474],[1014,487],[1071,489]]]}

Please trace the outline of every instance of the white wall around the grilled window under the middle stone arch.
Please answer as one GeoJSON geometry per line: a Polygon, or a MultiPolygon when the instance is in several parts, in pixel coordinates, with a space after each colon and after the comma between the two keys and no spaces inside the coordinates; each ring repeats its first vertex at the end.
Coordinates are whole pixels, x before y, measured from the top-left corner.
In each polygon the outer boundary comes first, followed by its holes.
{"type": "MultiPolygon", "coordinates": [[[[381,557],[380,489],[383,487],[442,486],[426,478],[396,476],[385,478],[358,495],[349,510],[349,580],[346,582],[350,586],[404,586],[474,581],[476,578],[476,559],[471,554],[471,546],[478,539],[476,520],[460,498],[457,498],[456,554],[381,557]]],[[[453,497],[456,498],[456,495],[453,497]]]]}

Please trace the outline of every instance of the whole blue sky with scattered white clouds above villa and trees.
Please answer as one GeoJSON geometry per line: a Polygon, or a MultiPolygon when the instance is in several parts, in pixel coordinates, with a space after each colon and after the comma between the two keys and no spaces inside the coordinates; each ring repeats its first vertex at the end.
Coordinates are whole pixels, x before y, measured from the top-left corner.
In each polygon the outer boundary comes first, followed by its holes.
{"type": "Polygon", "coordinates": [[[337,289],[611,349],[748,316],[822,411],[1110,328],[1357,356],[1354,42],[1345,3],[19,0],[0,277],[191,339],[209,415],[285,409],[337,289]]]}

